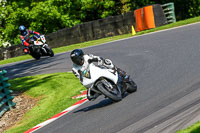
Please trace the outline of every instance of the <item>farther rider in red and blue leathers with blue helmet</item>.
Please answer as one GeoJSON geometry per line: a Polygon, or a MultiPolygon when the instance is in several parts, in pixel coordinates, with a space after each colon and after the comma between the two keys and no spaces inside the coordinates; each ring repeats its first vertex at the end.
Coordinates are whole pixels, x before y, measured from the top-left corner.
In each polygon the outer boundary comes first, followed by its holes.
{"type": "Polygon", "coordinates": [[[37,39],[40,37],[40,33],[35,32],[30,29],[26,29],[26,27],[23,25],[19,26],[19,30],[20,30],[19,37],[20,37],[22,46],[24,46],[23,51],[24,53],[29,53],[30,34],[33,34],[33,37],[37,39]]]}

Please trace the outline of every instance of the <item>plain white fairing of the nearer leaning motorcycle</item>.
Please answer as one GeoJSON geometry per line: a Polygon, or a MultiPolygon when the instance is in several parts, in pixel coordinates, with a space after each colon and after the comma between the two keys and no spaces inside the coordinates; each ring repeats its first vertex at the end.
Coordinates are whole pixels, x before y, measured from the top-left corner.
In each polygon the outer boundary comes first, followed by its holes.
{"type": "Polygon", "coordinates": [[[118,73],[115,72],[115,74],[113,73],[114,70],[111,69],[106,69],[106,68],[100,68],[95,66],[93,63],[91,63],[88,67],[88,70],[84,70],[87,74],[86,75],[82,75],[83,76],[83,82],[82,84],[86,87],[86,88],[90,88],[95,81],[97,81],[100,77],[105,77],[107,79],[110,79],[111,81],[113,81],[113,83],[117,84],[118,81],[118,73]],[[88,74],[88,70],[90,71],[90,74],[88,74]],[[88,78],[87,75],[90,75],[90,78],[88,78]]]}

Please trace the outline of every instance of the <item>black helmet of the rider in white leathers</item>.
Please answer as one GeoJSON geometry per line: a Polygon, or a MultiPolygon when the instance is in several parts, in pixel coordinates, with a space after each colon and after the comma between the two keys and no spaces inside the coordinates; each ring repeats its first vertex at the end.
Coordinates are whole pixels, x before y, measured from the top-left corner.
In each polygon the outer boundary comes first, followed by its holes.
{"type": "Polygon", "coordinates": [[[82,66],[83,65],[83,51],[81,49],[74,49],[71,52],[71,60],[74,64],[78,65],[78,66],[82,66]]]}

